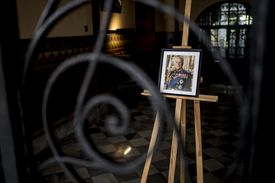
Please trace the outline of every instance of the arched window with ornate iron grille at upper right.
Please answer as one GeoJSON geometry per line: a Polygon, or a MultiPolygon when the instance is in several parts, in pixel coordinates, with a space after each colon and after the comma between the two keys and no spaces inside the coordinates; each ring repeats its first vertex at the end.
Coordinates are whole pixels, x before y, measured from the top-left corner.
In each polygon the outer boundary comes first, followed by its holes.
{"type": "MultiPolygon", "coordinates": [[[[211,38],[212,49],[227,59],[245,59],[253,23],[251,6],[243,1],[221,1],[203,11],[196,22],[211,38]]],[[[199,37],[199,48],[202,48],[199,37]]]]}

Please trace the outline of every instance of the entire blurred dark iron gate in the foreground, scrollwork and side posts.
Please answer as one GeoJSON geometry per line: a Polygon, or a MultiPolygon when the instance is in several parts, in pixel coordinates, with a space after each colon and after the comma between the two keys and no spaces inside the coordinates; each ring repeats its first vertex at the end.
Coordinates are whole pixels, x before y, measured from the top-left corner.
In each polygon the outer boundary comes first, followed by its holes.
{"type": "MultiPolygon", "coordinates": [[[[36,30],[33,35],[33,39],[28,47],[28,51],[26,54],[26,60],[21,69],[18,64],[19,71],[16,73],[15,79],[8,78],[10,74],[8,73],[10,64],[7,64],[7,56],[6,56],[6,48],[3,47],[5,43],[5,39],[3,37],[15,36],[14,39],[18,39],[17,35],[17,25],[16,25],[16,16],[12,16],[11,22],[8,24],[14,24],[16,31],[8,33],[1,32],[1,55],[0,55],[0,142],[1,142],[1,166],[3,169],[3,175],[5,177],[5,182],[16,183],[16,182],[36,182],[36,169],[31,162],[32,159],[32,146],[30,142],[30,138],[28,135],[27,127],[25,126],[24,121],[24,111],[25,111],[25,104],[28,103],[28,98],[25,98],[26,93],[26,85],[28,84],[28,74],[30,72],[31,63],[34,62],[34,58],[36,57],[37,49],[39,49],[38,45],[43,37],[47,35],[50,29],[54,26],[54,24],[60,20],[63,16],[68,14],[70,11],[78,8],[79,6],[88,3],[90,0],[78,0],[78,1],[71,1],[67,3],[63,7],[58,10],[56,6],[58,1],[49,0],[39,21],[36,26],[36,30]],[[16,25],[16,26],[15,26],[16,25]],[[6,35],[3,35],[6,34],[6,35]],[[14,34],[14,35],[12,35],[14,34]],[[7,69],[7,70],[6,70],[7,69]],[[21,80],[22,78],[22,80],[21,80]],[[21,86],[18,85],[18,81],[21,80],[21,86]],[[14,82],[15,83],[11,83],[14,82]],[[14,86],[13,86],[14,85],[14,86]],[[16,93],[18,89],[18,93],[16,93]],[[12,93],[10,94],[9,92],[12,93]],[[11,99],[13,98],[13,99],[11,99]],[[18,100],[17,100],[18,99],[18,100]],[[15,102],[17,101],[17,102],[15,102]],[[20,110],[19,110],[20,109],[20,110]],[[13,116],[11,116],[13,115],[13,116]],[[15,116],[15,117],[14,117],[15,116]],[[21,123],[22,122],[22,123],[21,123]]],[[[173,7],[167,6],[164,3],[156,0],[137,0],[141,3],[146,5],[152,6],[155,9],[158,9],[164,13],[172,15],[180,22],[184,22],[184,15],[179,13],[173,7]]],[[[106,35],[107,28],[109,26],[109,20],[111,16],[111,4],[112,1],[105,1],[106,3],[106,10],[108,12],[107,19],[104,21],[104,29],[98,35],[106,35]]],[[[266,74],[264,74],[264,68],[268,67],[268,63],[264,61],[264,55],[266,53],[266,45],[269,43],[267,41],[268,37],[266,37],[266,33],[268,32],[268,20],[270,19],[270,15],[267,12],[270,11],[268,7],[274,7],[274,4],[271,1],[264,1],[256,3],[256,6],[259,7],[259,10],[255,11],[254,15],[254,44],[252,51],[252,60],[250,61],[250,88],[248,94],[245,95],[242,89],[239,87],[239,82],[233,69],[230,67],[229,63],[225,58],[221,57],[219,51],[211,52],[211,41],[208,36],[203,35],[202,41],[207,46],[207,49],[213,54],[213,57],[219,59],[220,67],[223,72],[228,76],[229,80],[231,81],[232,85],[235,88],[236,98],[239,102],[242,103],[242,138],[241,138],[241,145],[239,148],[239,152],[233,162],[232,168],[227,173],[225,177],[225,182],[228,180],[229,176],[235,170],[237,163],[241,158],[244,158],[244,169],[245,169],[245,177],[244,180],[246,182],[253,182],[254,178],[257,177],[255,171],[259,168],[257,165],[259,164],[258,161],[255,161],[261,153],[257,154],[257,147],[258,142],[257,138],[259,134],[258,127],[259,127],[259,118],[264,115],[263,110],[260,109],[259,106],[263,106],[264,104],[261,102],[261,99],[264,98],[262,95],[261,88],[266,88],[266,83],[263,83],[263,79],[266,78],[266,74]],[[259,28],[260,27],[260,28],[259,28]],[[260,113],[259,113],[260,111],[260,113]],[[256,164],[255,164],[255,163],[256,164]]],[[[3,6],[1,6],[1,10],[9,9],[11,12],[15,12],[15,3],[7,3],[5,2],[3,6]]],[[[16,13],[15,13],[16,15],[16,13]]],[[[200,28],[197,24],[193,21],[189,22],[190,29],[197,34],[200,33],[200,28]]],[[[269,35],[269,34],[268,34],[269,35]]],[[[50,149],[52,150],[53,157],[48,159],[46,162],[41,164],[38,170],[42,170],[46,166],[52,163],[58,162],[60,166],[66,171],[66,173],[70,176],[73,181],[82,182],[81,178],[78,174],[73,170],[70,163],[73,164],[82,164],[85,166],[92,166],[95,168],[105,168],[111,171],[119,171],[119,172],[128,172],[132,171],[137,166],[145,161],[145,157],[138,158],[133,162],[125,163],[125,164],[116,164],[111,162],[105,158],[103,158],[100,154],[98,154],[89,143],[89,140],[85,137],[83,132],[83,125],[85,123],[85,118],[91,108],[94,106],[101,104],[101,103],[109,103],[110,105],[114,106],[118,109],[121,115],[121,121],[114,116],[109,116],[106,121],[105,125],[107,129],[112,134],[120,134],[123,130],[127,129],[127,126],[130,122],[129,111],[127,107],[120,102],[114,96],[101,94],[94,96],[87,102],[85,102],[85,97],[87,95],[88,87],[91,82],[91,78],[95,73],[98,63],[106,63],[113,65],[127,73],[133,80],[137,82],[138,85],[142,89],[149,89],[153,96],[149,98],[152,106],[155,110],[159,110],[160,113],[165,111],[163,118],[166,118],[166,121],[170,122],[174,126],[173,122],[173,115],[167,107],[166,102],[164,102],[162,96],[160,96],[155,83],[148,77],[144,71],[142,71],[139,67],[134,65],[133,63],[125,62],[122,59],[110,57],[104,55],[102,53],[102,48],[104,45],[104,39],[106,36],[98,36],[95,42],[94,50],[92,53],[82,53],[77,55],[76,57],[68,59],[64,64],[59,65],[50,78],[48,79],[48,83],[45,87],[44,97],[43,97],[43,105],[42,105],[42,118],[44,124],[45,134],[48,140],[48,144],[50,149]],[[79,93],[77,96],[75,114],[74,114],[74,121],[76,125],[76,135],[79,142],[84,147],[84,150],[87,154],[90,155],[90,159],[80,159],[74,157],[63,156],[62,152],[60,151],[60,147],[55,140],[54,135],[52,134],[52,126],[48,124],[47,119],[47,103],[48,103],[48,96],[51,92],[52,85],[55,83],[56,79],[67,69],[70,67],[74,67],[74,65],[78,63],[88,63],[88,68],[85,73],[85,77],[82,81],[82,85],[79,89],[79,93]]],[[[269,53],[270,54],[270,53],[269,53]]],[[[267,69],[270,71],[270,69],[267,69]]],[[[162,126],[162,125],[160,125],[162,126]]],[[[261,126],[262,127],[262,126],[261,126]]],[[[159,130],[160,134],[158,134],[158,141],[160,140],[161,131],[159,130]]],[[[178,134],[179,135],[179,134],[178,134]]],[[[158,143],[157,143],[158,144],[158,143]]],[[[152,153],[152,152],[149,152],[152,153]]]]}

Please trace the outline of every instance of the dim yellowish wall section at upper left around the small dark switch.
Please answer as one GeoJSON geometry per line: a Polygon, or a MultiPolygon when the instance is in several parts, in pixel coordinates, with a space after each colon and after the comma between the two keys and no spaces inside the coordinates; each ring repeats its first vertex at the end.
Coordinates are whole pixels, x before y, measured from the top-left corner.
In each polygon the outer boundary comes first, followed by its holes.
{"type": "MultiPolygon", "coordinates": [[[[58,7],[70,0],[61,0],[58,7]]],[[[16,0],[19,39],[32,37],[36,23],[47,3],[47,0],[16,0]]],[[[67,37],[93,35],[91,2],[82,5],[63,17],[52,28],[46,37],[67,37]],[[85,26],[88,31],[85,32],[85,26]]]]}

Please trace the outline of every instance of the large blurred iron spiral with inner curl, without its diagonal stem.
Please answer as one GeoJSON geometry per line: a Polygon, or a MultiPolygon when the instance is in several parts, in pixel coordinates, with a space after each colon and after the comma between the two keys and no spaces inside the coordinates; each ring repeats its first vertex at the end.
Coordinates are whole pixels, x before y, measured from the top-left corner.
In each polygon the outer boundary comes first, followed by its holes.
{"type": "MultiPolygon", "coordinates": [[[[109,119],[106,119],[106,125],[107,128],[111,130],[111,133],[117,134],[119,132],[123,132],[127,129],[127,126],[130,122],[130,116],[127,112],[127,108],[124,104],[122,104],[117,98],[107,95],[107,94],[101,94],[94,96],[91,98],[81,109],[81,111],[78,112],[76,115],[76,136],[78,138],[78,141],[81,142],[82,146],[84,147],[85,152],[87,154],[91,155],[91,158],[93,159],[93,162],[89,162],[87,160],[81,160],[78,162],[78,158],[72,158],[72,157],[66,157],[66,159],[60,157],[60,153],[58,152],[58,146],[56,146],[56,142],[54,142],[54,135],[51,133],[51,130],[49,130],[50,126],[47,123],[47,115],[46,115],[46,108],[47,108],[47,101],[48,96],[51,91],[51,87],[56,81],[56,79],[68,68],[78,64],[83,63],[87,61],[96,62],[93,60],[95,58],[95,53],[85,53],[85,54],[79,54],[71,59],[68,59],[66,63],[60,65],[50,76],[48,80],[48,84],[46,85],[45,92],[44,92],[44,98],[43,98],[43,108],[42,108],[42,115],[43,115],[43,123],[45,131],[47,132],[49,138],[48,142],[51,146],[51,149],[54,152],[54,158],[56,161],[62,162],[62,163],[80,163],[89,166],[94,166],[97,168],[104,168],[111,171],[119,171],[119,172],[128,172],[133,171],[137,166],[139,166],[142,162],[144,162],[145,157],[141,156],[140,158],[137,158],[133,162],[125,163],[125,164],[116,164],[113,162],[110,162],[109,160],[106,160],[105,158],[102,158],[97,152],[94,151],[94,149],[90,146],[89,141],[86,139],[84,132],[83,132],[83,125],[84,120],[87,114],[89,113],[89,110],[100,103],[109,103],[116,108],[120,110],[120,114],[122,115],[123,122],[121,125],[117,126],[118,119],[115,119],[115,117],[110,117],[109,119]],[[65,161],[66,160],[66,161],[65,161]]],[[[113,65],[128,75],[131,75],[133,79],[136,80],[136,82],[142,87],[142,88],[148,88],[152,92],[155,92],[156,95],[154,95],[152,98],[150,98],[151,103],[154,104],[154,107],[156,106],[160,107],[158,110],[166,111],[164,114],[168,117],[171,121],[173,121],[172,114],[169,112],[169,109],[167,105],[164,103],[164,100],[158,93],[158,90],[156,89],[156,86],[154,82],[139,68],[133,65],[133,63],[125,62],[121,59],[106,56],[106,55],[98,55],[97,57],[99,62],[107,63],[110,65],[113,65]]],[[[160,131],[162,131],[160,129],[160,131]]],[[[160,140],[161,134],[158,134],[158,141],[160,140]]],[[[152,153],[152,152],[150,152],[152,153]]],[[[50,163],[53,162],[53,160],[49,160],[50,163]]],[[[48,163],[47,163],[48,164],[48,163]]]]}

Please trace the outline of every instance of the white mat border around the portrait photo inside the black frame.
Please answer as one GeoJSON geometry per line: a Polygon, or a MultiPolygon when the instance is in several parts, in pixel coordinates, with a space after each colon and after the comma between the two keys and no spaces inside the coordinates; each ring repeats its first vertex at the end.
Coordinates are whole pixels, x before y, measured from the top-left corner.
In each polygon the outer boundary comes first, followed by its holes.
{"type": "MultiPolygon", "coordinates": [[[[198,52],[196,52],[196,51],[190,51],[190,52],[189,51],[164,51],[163,60],[162,60],[162,69],[161,69],[161,79],[160,79],[160,92],[161,93],[196,96],[197,78],[198,78],[198,71],[199,71],[199,60],[200,60],[200,52],[199,51],[198,52]],[[164,88],[164,77],[165,77],[165,73],[166,73],[167,55],[187,55],[187,56],[194,55],[195,56],[194,73],[193,73],[192,91],[191,92],[163,89],[164,88]]],[[[182,65],[182,66],[184,66],[184,65],[182,65]]]]}

